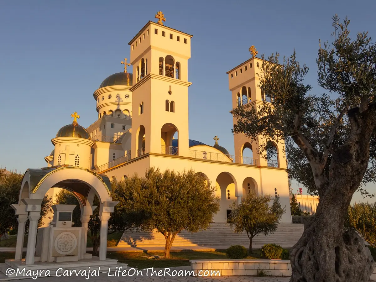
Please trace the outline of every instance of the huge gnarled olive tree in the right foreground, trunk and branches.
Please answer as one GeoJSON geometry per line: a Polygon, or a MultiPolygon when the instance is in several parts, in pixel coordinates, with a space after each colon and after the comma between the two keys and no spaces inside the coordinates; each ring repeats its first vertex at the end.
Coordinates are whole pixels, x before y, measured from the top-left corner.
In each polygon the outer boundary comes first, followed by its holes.
{"type": "Polygon", "coordinates": [[[290,176],[320,196],[291,249],[292,282],[368,281],[374,268],[363,240],[344,227],[355,191],[376,180],[376,46],[367,32],[351,39],[349,23],[336,15],[334,41],[320,42],[318,84],[329,93],[310,93],[295,52],[272,54],[258,72],[270,103],[233,110],[235,133],[284,140],[290,176]]]}

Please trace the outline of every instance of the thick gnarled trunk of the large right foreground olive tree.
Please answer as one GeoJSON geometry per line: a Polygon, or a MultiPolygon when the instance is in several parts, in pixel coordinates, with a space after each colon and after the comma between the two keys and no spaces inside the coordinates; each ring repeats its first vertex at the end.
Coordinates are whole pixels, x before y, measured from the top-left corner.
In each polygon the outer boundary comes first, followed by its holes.
{"type": "Polygon", "coordinates": [[[371,132],[362,132],[350,140],[352,146],[347,144],[335,152],[329,183],[318,190],[320,203],[315,217],[290,251],[291,282],[369,280],[374,268],[371,252],[354,230],[344,228],[344,221],[368,165],[367,135],[371,132]]]}

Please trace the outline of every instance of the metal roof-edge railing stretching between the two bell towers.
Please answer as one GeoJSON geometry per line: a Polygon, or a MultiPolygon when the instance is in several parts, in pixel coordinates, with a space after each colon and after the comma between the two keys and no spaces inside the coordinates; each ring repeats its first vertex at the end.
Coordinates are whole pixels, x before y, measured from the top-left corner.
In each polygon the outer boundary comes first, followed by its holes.
{"type": "Polygon", "coordinates": [[[246,164],[246,165],[257,165],[257,159],[234,156],[234,155],[224,155],[220,153],[211,153],[205,151],[189,150],[189,156],[194,159],[205,159],[208,161],[219,161],[219,162],[232,162],[235,164],[246,164]]]}

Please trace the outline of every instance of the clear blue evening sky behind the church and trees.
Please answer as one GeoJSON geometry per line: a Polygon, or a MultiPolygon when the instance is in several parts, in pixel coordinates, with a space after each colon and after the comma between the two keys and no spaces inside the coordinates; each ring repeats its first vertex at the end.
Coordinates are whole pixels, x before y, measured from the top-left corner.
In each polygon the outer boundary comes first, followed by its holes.
{"type": "MultiPolygon", "coordinates": [[[[0,167],[45,167],[51,139],[70,124],[97,119],[93,92],[123,70],[127,44],[162,11],[166,26],[192,34],[189,60],[190,139],[219,144],[234,153],[231,93],[226,71],[250,58],[248,48],[279,52],[310,68],[317,85],[318,39],[332,40],[331,17],[352,21],[350,30],[376,38],[376,1],[18,1],[0,2],[0,167]]],[[[132,68],[128,68],[129,72],[132,68]]],[[[294,183],[294,191],[297,190],[294,183]]],[[[375,185],[368,190],[376,193],[375,185]]],[[[354,199],[361,199],[356,195],[354,199]]],[[[373,200],[371,200],[373,201],[373,200]]]]}

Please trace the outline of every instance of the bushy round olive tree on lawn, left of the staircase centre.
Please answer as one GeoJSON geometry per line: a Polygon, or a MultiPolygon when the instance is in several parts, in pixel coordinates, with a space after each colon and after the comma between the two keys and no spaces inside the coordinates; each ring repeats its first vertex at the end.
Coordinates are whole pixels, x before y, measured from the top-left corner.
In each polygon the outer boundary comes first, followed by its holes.
{"type": "Polygon", "coordinates": [[[165,237],[165,258],[170,258],[177,234],[208,228],[219,210],[215,187],[193,170],[177,173],[150,168],[145,177],[134,175],[119,181],[117,190],[128,226],[156,229],[165,237]]]}

